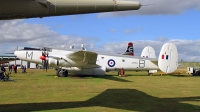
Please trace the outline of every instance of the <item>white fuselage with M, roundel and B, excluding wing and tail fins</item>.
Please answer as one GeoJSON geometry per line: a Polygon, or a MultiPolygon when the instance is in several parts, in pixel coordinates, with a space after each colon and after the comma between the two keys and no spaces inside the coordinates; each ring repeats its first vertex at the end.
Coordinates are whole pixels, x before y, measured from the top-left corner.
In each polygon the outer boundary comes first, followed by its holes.
{"type": "MultiPolygon", "coordinates": [[[[52,52],[48,52],[49,56],[59,57],[59,60],[55,58],[49,58],[49,66],[51,67],[63,67],[64,69],[73,70],[77,68],[85,68],[90,67],[89,63],[83,62],[84,58],[80,58],[80,61],[74,62],[67,58],[68,54],[74,53],[75,51],[70,50],[58,50],[52,49],[52,52]],[[64,60],[60,60],[63,58],[64,60]]],[[[21,60],[42,64],[42,60],[40,56],[42,55],[42,51],[15,51],[15,55],[21,60]]],[[[87,54],[86,54],[87,57],[87,54]]],[[[96,65],[100,67],[104,67],[106,71],[114,71],[120,70],[123,68],[124,70],[158,70],[158,66],[153,63],[153,61],[157,61],[156,59],[147,59],[142,57],[134,57],[134,56],[124,56],[120,54],[101,54],[98,53],[96,58],[96,65]]],[[[92,65],[91,65],[92,66],[92,65]]]]}

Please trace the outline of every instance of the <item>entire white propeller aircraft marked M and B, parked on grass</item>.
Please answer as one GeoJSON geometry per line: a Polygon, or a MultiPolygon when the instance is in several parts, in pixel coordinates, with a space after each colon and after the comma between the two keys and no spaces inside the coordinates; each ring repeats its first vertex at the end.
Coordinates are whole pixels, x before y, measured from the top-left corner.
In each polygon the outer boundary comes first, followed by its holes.
{"type": "Polygon", "coordinates": [[[14,54],[21,60],[59,68],[58,76],[67,76],[68,73],[105,75],[105,72],[119,71],[122,68],[125,71],[160,69],[171,73],[178,67],[178,51],[172,43],[163,45],[158,59],[49,47],[42,50],[17,50],[14,54]]]}

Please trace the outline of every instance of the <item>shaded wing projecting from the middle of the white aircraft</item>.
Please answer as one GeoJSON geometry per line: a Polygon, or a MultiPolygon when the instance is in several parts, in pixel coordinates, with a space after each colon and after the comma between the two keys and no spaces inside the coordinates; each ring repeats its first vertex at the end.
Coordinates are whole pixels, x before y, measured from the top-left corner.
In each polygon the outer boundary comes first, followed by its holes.
{"type": "MultiPolygon", "coordinates": [[[[89,68],[97,67],[97,53],[89,51],[77,51],[72,54],[66,55],[67,58],[77,63],[84,63],[84,66],[89,68]]],[[[98,66],[99,67],[99,66],[98,66]]]]}

